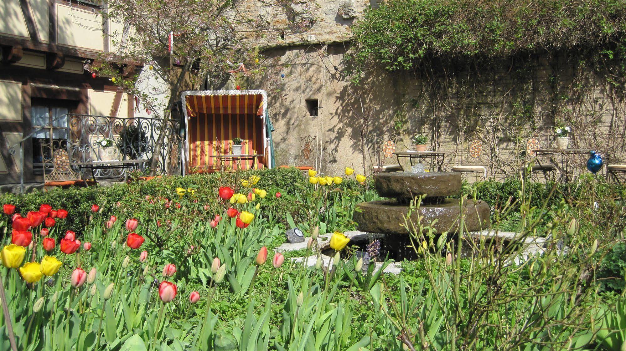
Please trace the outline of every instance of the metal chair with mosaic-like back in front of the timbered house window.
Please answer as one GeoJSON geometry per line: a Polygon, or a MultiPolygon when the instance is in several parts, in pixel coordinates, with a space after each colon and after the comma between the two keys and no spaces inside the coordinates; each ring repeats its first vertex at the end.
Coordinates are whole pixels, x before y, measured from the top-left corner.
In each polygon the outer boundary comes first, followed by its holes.
{"type": "Polygon", "coordinates": [[[72,170],[69,162],[66,140],[50,140],[41,143],[43,157],[44,190],[49,186],[69,188],[69,186],[95,185],[93,180],[84,180],[79,173],[72,170]]]}

